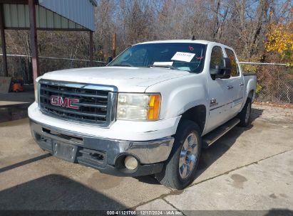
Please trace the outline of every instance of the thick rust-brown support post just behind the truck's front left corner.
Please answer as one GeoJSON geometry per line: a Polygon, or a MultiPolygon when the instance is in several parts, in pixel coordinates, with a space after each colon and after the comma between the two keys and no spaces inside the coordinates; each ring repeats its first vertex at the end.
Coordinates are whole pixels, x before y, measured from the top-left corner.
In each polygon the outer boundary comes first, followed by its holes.
{"type": "Polygon", "coordinates": [[[31,41],[34,82],[36,82],[36,77],[40,75],[40,70],[38,65],[38,38],[36,34],[36,6],[34,0],[29,0],[29,36],[31,41]]]}

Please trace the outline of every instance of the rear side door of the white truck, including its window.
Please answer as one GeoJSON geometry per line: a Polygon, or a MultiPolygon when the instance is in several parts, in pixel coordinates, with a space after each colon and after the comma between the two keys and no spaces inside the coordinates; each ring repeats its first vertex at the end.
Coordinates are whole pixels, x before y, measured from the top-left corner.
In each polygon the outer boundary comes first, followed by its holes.
{"type": "Polygon", "coordinates": [[[240,75],[240,68],[238,68],[236,55],[233,50],[225,48],[227,58],[231,62],[231,77],[230,77],[230,93],[232,93],[231,112],[229,117],[235,117],[240,112],[240,108],[243,102],[244,94],[244,79],[240,75]]]}

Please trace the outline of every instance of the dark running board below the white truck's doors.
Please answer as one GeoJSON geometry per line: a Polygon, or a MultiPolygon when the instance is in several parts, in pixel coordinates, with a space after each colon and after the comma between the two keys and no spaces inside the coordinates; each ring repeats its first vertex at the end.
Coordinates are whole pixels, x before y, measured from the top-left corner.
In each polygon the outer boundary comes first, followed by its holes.
{"type": "Polygon", "coordinates": [[[217,129],[211,131],[205,136],[202,136],[202,148],[207,148],[208,146],[215,143],[215,141],[220,139],[221,136],[226,134],[227,131],[230,131],[230,129],[235,127],[239,122],[240,119],[231,119],[230,121],[227,121],[225,124],[222,124],[222,126],[219,126],[217,129]]]}

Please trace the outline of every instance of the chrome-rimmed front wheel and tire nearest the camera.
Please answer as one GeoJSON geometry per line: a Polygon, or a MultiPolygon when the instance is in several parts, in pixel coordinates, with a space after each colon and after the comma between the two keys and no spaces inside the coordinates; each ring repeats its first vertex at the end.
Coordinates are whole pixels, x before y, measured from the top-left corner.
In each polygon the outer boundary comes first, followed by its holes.
{"type": "Polygon", "coordinates": [[[180,121],[175,134],[173,149],[163,171],[155,178],[170,188],[183,189],[195,179],[200,158],[200,128],[193,121],[180,121]]]}

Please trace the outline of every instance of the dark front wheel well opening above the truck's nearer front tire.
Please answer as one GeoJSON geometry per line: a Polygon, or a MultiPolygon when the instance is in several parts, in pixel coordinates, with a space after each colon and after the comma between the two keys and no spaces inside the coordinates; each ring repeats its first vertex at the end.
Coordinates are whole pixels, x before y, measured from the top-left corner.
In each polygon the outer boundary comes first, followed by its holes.
{"type": "Polygon", "coordinates": [[[205,128],[206,112],[205,105],[198,105],[185,111],[182,114],[181,119],[194,121],[200,127],[200,131],[202,132],[205,128]]]}

